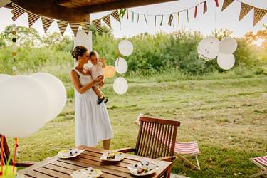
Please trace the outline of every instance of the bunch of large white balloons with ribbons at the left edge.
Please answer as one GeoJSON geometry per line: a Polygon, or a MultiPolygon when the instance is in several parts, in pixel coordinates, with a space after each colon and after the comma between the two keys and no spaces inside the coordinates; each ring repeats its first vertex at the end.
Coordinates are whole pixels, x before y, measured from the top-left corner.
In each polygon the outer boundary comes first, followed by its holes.
{"type": "MultiPolygon", "coordinates": [[[[14,76],[0,74],[0,98],[0,134],[6,137],[27,137],[63,110],[66,88],[61,80],[48,73],[14,76]]],[[[1,152],[2,158],[4,152],[1,152]]],[[[15,160],[16,146],[14,164],[15,160]]]]}

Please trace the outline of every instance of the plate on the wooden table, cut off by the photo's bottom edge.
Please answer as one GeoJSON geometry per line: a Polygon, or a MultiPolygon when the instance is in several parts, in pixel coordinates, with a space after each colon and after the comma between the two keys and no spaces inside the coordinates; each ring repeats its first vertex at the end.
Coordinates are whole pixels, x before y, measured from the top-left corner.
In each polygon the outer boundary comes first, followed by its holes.
{"type": "Polygon", "coordinates": [[[100,169],[93,169],[92,167],[70,172],[70,176],[73,178],[95,178],[102,174],[103,172],[100,169]]]}

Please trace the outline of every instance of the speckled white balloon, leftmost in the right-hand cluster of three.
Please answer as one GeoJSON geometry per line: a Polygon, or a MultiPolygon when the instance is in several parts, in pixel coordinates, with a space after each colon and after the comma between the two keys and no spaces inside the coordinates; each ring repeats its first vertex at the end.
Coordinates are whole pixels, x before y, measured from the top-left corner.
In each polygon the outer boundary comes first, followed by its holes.
{"type": "Polygon", "coordinates": [[[216,58],[219,53],[219,40],[213,36],[202,39],[197,46],[197,52],[199,57],[206,61],[216,58]]]}

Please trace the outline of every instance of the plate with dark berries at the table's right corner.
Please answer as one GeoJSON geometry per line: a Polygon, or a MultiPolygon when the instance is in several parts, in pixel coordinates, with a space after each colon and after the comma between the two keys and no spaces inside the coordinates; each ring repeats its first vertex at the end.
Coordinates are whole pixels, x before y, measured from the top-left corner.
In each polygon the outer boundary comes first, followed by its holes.
{"type": "Polygon", "coordinates": [[[156,170],[158,169],[157,164],[150,163],[150,162],[140,162],[138,164],[132,164],[131,166],[127,167],[130,170],[130,173],[135,176],[147,176],[150,174],[154,174],[156,170]],[[137,165],[137,167],[135,166],[137,165]],[[137,173],[138,169],[144,169],[143,172],[137,173]],[[145,172],[145,169],[147,169],[147,172],[145,172]]]}

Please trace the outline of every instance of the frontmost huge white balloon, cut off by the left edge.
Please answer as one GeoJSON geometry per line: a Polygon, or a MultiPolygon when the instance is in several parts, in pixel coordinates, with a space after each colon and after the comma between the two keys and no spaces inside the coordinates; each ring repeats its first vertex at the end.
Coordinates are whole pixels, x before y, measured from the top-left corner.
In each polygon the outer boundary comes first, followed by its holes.
{"type": "Polygon", "coordinates": [[[0,134],[26,137],[46,122],[49,99],[38,80],[16,75],[0,83],[0,134]]]}

